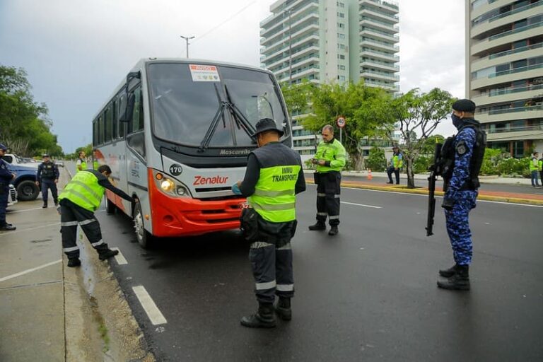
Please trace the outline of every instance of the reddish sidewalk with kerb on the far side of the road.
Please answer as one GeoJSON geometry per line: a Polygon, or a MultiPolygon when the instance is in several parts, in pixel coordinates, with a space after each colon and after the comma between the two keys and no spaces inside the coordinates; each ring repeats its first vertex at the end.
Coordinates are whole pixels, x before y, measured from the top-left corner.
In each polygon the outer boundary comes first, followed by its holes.
{"type": "MultiPolygon", "coordinates": [[[[304,170],[305,181],[313,183],[314,170],[304,170]]],[[[408,189],[405,185],[406,176],[402,175],[403,185],[387,185],[388,176],[386,173],[372,173],[372,177],[375,180],[368,180],[367,171],[344,171],[341,172],[343,180],[341,180],[341,186],[343,187],[355,187],[360,189],[374,189],[378,191],[388,192],[404,192],[409,194],[428,194],[428,175],[416,174],[415,180],[424,182],[425,186],[416,187],[415,189],[408,189]],[[347,180],[346,180],[347,179],[347,180]]],[[[529,179],[518,178],[506,178],[506,177],[494,177],[494,176],[481,176],[481,185],[530,185],[529,179]]],[[[438,181],[438,184],[441,182],[438,181]]],[[[530,189],[530,192],[509,192],[505,190],[489,190],[481,187],[479,189],[480,200],[495,201],[495,202],[511,202],[517,204],[532,204],[543,205],[543,192],[541,188],[530,189]],[[532,193],[530,193],[532,192],[532,193]]],[[[436,185],[436,195],[443,196],[442,187],[436,185]]]]}

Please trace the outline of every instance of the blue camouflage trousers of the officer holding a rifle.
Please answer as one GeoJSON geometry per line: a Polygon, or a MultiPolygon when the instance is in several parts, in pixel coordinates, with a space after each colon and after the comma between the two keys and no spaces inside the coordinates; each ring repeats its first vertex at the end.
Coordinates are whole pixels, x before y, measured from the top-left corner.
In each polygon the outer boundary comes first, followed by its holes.
{"type": "Polygon", "coordinates": [[[452,253],[459,265],[469,265],[472,262],[472,232],[469,230],[468,216],[469,211],[475,207],[477,194],[477,191],[458,191],[452,210],[445,210],[452,253]]]}

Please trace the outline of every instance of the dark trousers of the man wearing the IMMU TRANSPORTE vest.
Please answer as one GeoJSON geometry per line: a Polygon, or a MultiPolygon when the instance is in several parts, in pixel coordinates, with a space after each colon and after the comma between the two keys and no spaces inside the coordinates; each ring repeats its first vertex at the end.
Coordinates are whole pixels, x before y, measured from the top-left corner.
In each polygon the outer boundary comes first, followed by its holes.
{"type": "MultiPolygon", "coordinates": [[[[295,230],[296,221],[277,223],[273,228],[274,235],[262,234],[259,241],[251,244],[249,260],[259,303],[274,303],[276,295],[282,298],[294,296],[290,240],[295,230]]],[[[264,233],[271,231],[264,230],[264,233]]]]}

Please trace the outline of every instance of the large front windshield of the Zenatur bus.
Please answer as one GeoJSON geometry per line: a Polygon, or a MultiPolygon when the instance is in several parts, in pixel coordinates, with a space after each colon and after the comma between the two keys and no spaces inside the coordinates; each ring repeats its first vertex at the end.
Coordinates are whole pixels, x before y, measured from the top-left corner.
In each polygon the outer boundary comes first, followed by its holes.
{"type": "Polygon", "coordinates": [[[251,129],[262,118],[286,122],[279,89],[264,71],[154,63],[148,81],[153,132],[164,141],[200,147],[212,132],[210,147],[247,147],[255,141],[245,122],[251,129]]]}

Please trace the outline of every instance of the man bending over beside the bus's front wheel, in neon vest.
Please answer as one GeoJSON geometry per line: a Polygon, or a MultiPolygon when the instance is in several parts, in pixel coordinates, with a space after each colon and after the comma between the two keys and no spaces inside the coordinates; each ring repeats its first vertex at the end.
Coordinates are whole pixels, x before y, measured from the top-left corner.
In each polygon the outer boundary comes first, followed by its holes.
{"type": "Polygon", "coordinates": [[[118,250],[107,247],[102,240],[100,223],[94,216],[94,211],[100,206],[105,189],[115,192],[129,202],[134,202],[134,199],[111,185],[111,182],[107,180],[110,175],[111,168],[108,165],[102,165],[98,170],[79,171],[59,195],[62,250],[68,257],[69,267],[81,265],[79,247],[76,245],[78,224],[81,225],[88,241],[98,252],[100,260],[114,257],[119,253],[118,250]]]}

